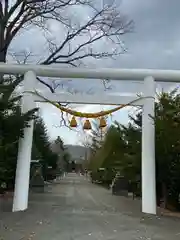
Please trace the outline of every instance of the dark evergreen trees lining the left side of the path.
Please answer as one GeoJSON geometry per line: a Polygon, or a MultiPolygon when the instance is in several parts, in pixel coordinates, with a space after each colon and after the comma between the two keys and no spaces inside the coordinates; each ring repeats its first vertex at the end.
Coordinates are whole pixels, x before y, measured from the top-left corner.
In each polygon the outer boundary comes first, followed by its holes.
{"type": "MultiPolygon", "coordinates": [[[[20,79],[4,79],[0,84],[0,186],[6,184],[7,189],[13,189],[18,155],[19,138],[23,138],[23,130],[29,127],[28,122],[34,120],[32,160],[39,160],[46,180],[53,179],[57,171],[65,171],[69,155],[60,137],[55,142],[58,152],[52,149],[43,119],[38,114],[38,108],[27,113],[21,113],[21,96],[16,93],[20,79]],[[64,162],[62,166],[59,162],[64,162]],[[60,169],[61,167],[61,169],[60,169]],[[48,171],[51,169],[51,173],[48,171]]],[[[25,161],[26,159],[24,159],[25,161]]]]}

